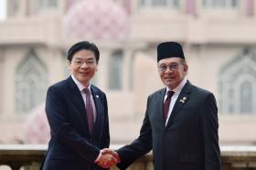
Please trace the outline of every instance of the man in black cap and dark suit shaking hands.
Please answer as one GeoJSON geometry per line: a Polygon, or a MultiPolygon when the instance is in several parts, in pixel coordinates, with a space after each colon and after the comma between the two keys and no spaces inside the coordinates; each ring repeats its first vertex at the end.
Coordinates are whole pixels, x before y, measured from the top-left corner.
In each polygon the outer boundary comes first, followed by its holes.
{"type": "MultiPolygon", "coordinates": [[[[182,46],[157,46],[165,88],[149,95],[139,137],[117,153],[125,169],[153,149],[155,170],[219,170],[218,108],[212,93],[191,85],[182,46]]],[[[111,151],[110,151],[111,153],[111,151]]]]}

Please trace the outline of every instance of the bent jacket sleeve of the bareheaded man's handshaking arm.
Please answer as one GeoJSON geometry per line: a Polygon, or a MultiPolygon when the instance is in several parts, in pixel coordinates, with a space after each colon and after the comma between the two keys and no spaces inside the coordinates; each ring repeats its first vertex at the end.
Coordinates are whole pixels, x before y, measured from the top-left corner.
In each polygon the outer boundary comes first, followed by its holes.
{"type": "Polygon", "coordinates": [[[53,135],[61,144],[67,145],[87,161],[93,163],[100,154],[100,149],[91,145],[87,139],[73,128],[68,118],[68,106],[65,105],[64,95],[55,86],[48,88],[46,113],[53,135]]]}

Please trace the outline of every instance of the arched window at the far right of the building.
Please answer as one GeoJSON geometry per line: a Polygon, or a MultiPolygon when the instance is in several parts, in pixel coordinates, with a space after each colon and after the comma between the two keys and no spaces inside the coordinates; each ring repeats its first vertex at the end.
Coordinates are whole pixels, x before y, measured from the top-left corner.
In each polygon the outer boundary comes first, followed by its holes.
{"type": "Polygon", "coordinates": [[[245,50],[220,71],[220,111],[256,114],[256,55],[245,50]]]}

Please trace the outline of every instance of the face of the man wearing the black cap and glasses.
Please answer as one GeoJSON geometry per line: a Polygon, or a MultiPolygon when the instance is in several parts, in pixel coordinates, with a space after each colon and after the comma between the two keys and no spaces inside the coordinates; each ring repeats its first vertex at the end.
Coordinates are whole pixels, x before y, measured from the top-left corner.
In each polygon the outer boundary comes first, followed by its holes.
{"type": "Polygon", "coordinates": [[[187,75],[187,65],[181,58],[165,58],[158,62],[158,73],[165,86],[176,88],[187,75]]]}

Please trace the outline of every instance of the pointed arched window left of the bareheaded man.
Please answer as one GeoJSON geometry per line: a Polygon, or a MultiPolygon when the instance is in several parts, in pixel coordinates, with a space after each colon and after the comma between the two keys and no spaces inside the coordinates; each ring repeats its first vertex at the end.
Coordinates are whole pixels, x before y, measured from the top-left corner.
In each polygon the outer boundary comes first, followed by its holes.
{"type": "Polygon", "coordinates": [[[45,100],[48,69],[34,50],[16,68],[16,112],[27,113],[45,100]]]}

